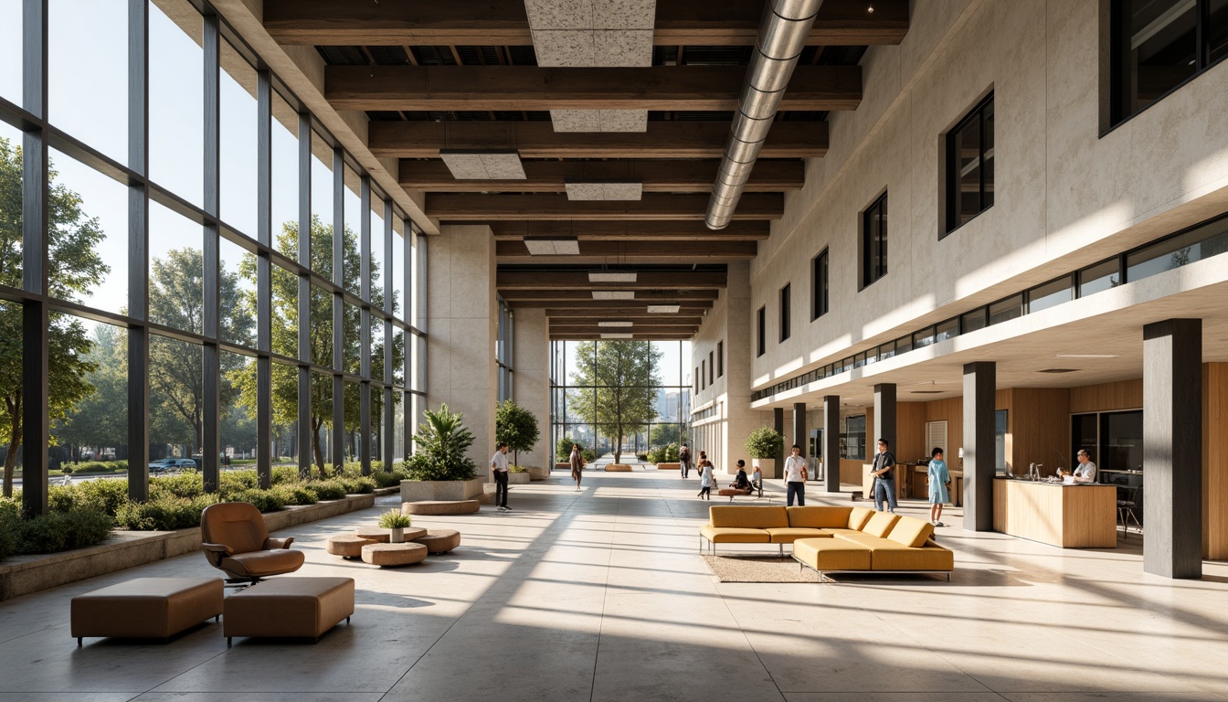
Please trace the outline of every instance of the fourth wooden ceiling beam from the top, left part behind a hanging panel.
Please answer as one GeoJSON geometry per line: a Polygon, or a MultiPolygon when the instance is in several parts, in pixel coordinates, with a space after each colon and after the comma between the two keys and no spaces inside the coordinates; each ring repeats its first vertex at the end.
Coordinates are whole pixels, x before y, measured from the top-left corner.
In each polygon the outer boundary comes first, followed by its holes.
{"type": "MultiPolygon", "coordinates": [[[[639,182],[646,193],[706,193],[721,162],[626,160],[626,161],[524,161],[523,181],[458,181],[440,160],[400,161],[400,186],[408,191],[431,193],[561,193],[569,182],[639,182]]],[[[798,191],[806,184],[806,165],[801,160],[760,160],[755,164],[745,192],[766,193],[798,191]]]]}

